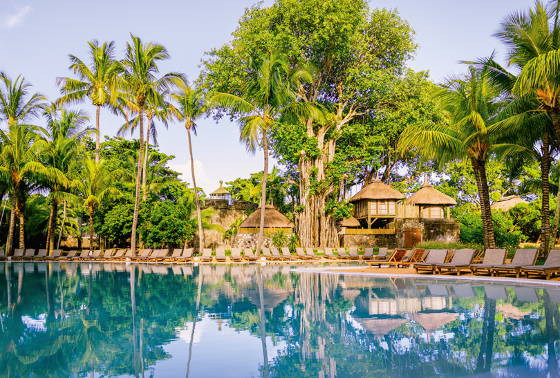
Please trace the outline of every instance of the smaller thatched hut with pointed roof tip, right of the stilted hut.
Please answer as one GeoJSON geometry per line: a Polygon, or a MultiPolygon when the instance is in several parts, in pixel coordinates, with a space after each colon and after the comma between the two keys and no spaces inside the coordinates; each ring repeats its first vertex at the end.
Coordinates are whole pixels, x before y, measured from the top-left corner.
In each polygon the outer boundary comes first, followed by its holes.
{"type": "Polygon", "coordinates": [[[428,182],[428,176],[424,176],[424,185],[414,193],[406,205],[418,205],[420,207],[420,218],[443,219],[447,207],[447,218],[449,218],[449,206],[457,205],[456,200],[434,189],[428,182]]]}

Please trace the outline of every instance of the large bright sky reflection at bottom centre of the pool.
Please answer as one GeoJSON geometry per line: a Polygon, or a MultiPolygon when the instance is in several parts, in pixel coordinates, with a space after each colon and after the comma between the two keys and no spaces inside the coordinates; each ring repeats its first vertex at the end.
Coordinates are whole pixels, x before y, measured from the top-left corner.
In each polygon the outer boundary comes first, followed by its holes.
{"type": "MultiPolygon", "coordinates": [[[[192,323],[178,329],[178,339],[164,346],[172,359],[158,361],[154,367],[156,377],[185,377],[189,359],[192,323]]],[[[286,348],[284,341],[274,346],[266,338],[269,363],[286,348]]],[[[259,377],[263,365],[261,339],[248,331],[236,332],[226,321],[218,331],[218,321],[207,314],[196,322],[189,377],[259,377]]]]}

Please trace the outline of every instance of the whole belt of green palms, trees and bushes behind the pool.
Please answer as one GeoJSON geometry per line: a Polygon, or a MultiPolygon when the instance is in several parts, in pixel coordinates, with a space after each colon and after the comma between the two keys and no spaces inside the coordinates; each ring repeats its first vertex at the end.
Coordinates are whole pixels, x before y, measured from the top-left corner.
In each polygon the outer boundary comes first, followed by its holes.
{"type": "Polygon", "coordinates": [[[169,51],[136,35],[122,56],[114,41],[95,40],[88,57],[68,55],[57,99],[1,72],[0,245],[11,254],[71,237],[199,250],[205,229],[230,237],[239,222],[212,225],[196,186],[197,122],[213,117],[234,121],[248,153],[263,157],[262,171],[226,189],[286,214],[303,247],[337,246],[348,193],[379,173],[402,193],[428,174],[458,202],[451,216],[463,243],[548,251],[560,223],[559,6],[537,1],[505,15],[495,34],[505,64],[481,51],[442,82],[407,67],[418,49],[409,23],[362,0],[256,4],[192,83],[161,73],[169,51]],[[122,117],[118,135],[104,136],[102,109],[122,117]],[[158,148],[158,129],[189,145],[193,187],[169,169],[174,155],[158,148]],[[526,203],[490,209],[512,195],[526,203]]]}

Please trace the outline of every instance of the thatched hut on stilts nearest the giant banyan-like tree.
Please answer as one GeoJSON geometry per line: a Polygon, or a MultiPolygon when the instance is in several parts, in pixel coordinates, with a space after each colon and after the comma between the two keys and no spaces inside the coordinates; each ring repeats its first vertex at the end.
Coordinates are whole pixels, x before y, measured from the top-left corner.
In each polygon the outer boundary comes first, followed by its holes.
{"type": "Polygon", "coordinates": [[[396,218],[397,201],[404,198],[404,194],[385,185],[377,173],[375,180],[357,192],[349,202],[355,205],[355,218],[367,219],[368,229],[371,229],[372,223],[377,218],[396,218]]]}

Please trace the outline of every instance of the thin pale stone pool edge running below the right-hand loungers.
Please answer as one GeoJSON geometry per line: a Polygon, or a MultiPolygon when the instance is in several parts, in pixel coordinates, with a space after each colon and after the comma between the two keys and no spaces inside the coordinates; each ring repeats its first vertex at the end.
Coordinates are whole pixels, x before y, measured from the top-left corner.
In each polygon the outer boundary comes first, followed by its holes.
{"type": "Polygon", "coordinates": [[[441,275],[424,275],[424,274],[386,274],[386,273],[364,273],[364,272],[348,272],[347,267],[325,267],[325,268],[295,268],[290,272],[296,273],[315,273],[315,274],[343,274],[345,276],[365,276],[377,278],[417,278],[424,280],[441,280],[441,281],[472,281],[480,283],[498,283],[501,285],[517,284],[524,286],[556,286],[560,287],[560,281],[536,280],[533,278],[509,278],[509,277],[485,277],[485,276],[441,276],[441,275]]]}

